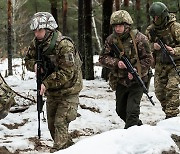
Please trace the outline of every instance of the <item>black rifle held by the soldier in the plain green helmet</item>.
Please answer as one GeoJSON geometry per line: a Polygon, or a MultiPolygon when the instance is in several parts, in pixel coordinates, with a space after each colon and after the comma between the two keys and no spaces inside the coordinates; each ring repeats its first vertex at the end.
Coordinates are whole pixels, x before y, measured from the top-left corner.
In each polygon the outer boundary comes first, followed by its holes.
{"type": "MultiPolygon", "coordinates": [[[[156,33],[155,33],[154,30],[151,30],[151,31],[150,31],[150,35],[157,37],[157,35],[156,35],[156,33]]],[[[174,62],[173,57],[172,57],[172,56],[170,55],[170,53],[167,51],[167,48],[166,48],[166,46],[164,45],[164,43],[162,42],[162,40],[157,37],[156,41],[157,41],[157,43],[160,45],[162,53],[165,55],[165,57],[168,58],[168,60],[170,61],[170,63],[173,65],[174,70],[177,72],[178,76],[180,76],[180,71],[177,70],[176,63],[174,62]]]]}

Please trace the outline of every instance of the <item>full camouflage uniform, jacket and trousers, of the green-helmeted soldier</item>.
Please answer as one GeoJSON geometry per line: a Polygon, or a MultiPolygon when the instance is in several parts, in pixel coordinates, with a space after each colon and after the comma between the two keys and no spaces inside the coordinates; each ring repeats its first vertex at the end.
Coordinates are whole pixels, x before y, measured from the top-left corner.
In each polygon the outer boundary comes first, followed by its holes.
{"type": "Polygon", "coordinates": [[[172,55],[177,69],[180,69],[180,23],[176,22],[174,14],[170,14],[169,21],[164,28],[159,29],[154,24],[151,24],[147,30],[152,52],[155,60],[155,94],[161,103],[162,110],[167,117],[177,116],[179,113],[179,76],[173,69],[173,65],[163,56],[161,51],[153,48],[153,43],[156,42],[156,37],[150,35],[151,29],[161,38],[164,44],[172,47],[175,54],[172,55]]]}

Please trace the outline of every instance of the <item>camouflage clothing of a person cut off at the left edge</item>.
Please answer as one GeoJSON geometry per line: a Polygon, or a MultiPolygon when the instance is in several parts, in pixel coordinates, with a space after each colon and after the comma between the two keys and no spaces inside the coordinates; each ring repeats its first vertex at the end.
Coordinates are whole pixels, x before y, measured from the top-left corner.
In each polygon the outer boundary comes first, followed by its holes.
{"type": "Polygon", "coordinates": [[[15,93],[0,75],[0,119],[5,118],[8,115],[11,105],[15,104],[14,97],[15,93]]]}

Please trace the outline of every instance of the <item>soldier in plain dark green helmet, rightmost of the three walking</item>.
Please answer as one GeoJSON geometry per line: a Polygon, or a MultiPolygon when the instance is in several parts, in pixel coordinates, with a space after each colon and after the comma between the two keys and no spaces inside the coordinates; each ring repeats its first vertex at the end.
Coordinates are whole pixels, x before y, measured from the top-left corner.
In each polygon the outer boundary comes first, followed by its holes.
{"type": "Polygon", "coordinates": [[[169,13],[168,8],[162,2],[154,2],[149,9],[153,22],[148,26],[148,36],[155,67],[154,86],[155,94],[161,103],[166,118],[176,117],[179,113],[179,88],[178,75],[173,65],[164,56],[161,47],[156,42],[157,38],[165,44],[169,54],[173,57],[177,67],[180,66],[180,24],[176,22],[174,14],[169,13]],[[154,36],[153,31],[156,36],[154,36]]]}

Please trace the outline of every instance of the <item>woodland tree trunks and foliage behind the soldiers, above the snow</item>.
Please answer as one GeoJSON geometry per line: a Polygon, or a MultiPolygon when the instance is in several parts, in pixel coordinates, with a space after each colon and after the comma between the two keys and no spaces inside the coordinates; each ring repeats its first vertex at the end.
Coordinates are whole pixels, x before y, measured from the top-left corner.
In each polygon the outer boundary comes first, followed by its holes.
{"type": "MultiPolygon", "coordinates": [[[[51,12],[63,35],[70,36],[81,52],[83,77],[94,79],[93,55],[103,48],[111,33],[109,25],[113,11],[127,10],[134,20],[134,28],[144,33],[151,19],[149,6],[157,0],[1,0],[0,56],[8,58],[7,76],[13,75],[12,59],[25,56],[33,38],[29,21],[34,13],[51,12]]],[[[180,0],[159,0],[180,21],[180,0]]],[[[106,72],[105,72],[106,74],[106,72]]]]}

